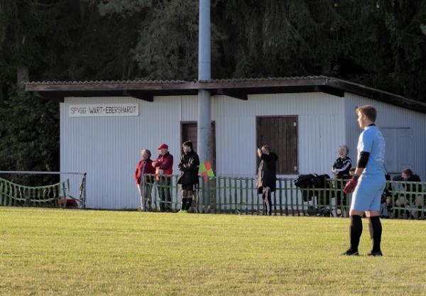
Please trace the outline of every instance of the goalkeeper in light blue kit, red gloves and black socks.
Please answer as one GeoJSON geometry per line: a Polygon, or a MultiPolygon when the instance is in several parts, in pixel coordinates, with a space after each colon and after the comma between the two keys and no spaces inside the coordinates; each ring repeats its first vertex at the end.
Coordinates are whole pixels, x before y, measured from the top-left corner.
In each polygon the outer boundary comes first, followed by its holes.
{"type": "Polygon", "coordinates": [[[356,108],[359,127],[364,131],[358,140],[358,161],[355,175],[344,187],[344,192],[352,194],[351,225],[349,236],[351,246],[342,253],[346,256],[358,256],[359,239],[362,234],[361,217],[364,212],[368,217],[368,229],[373,248],[368,256],[383,256],[380,248],[382,226],[380,222],[381,194],[386,186],[383,163],[385,161],[385,139],[374,122],[377,111],[371,105],[356,108]]]}

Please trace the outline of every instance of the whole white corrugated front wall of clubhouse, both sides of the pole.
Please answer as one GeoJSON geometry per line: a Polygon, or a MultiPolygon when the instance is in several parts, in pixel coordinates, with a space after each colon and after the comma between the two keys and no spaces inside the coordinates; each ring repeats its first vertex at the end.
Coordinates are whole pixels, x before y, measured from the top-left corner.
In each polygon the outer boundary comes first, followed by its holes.
{"type": "MultiPolygon", "coordinates": [[[[323,93],[259,94],[241,101],[224,96],[212,99],[216,123],[217,175],[256,173],[256,116],[298,116],[299,172],[330,173],[337,146],[344,142],[344,102],[323,93]]],[[[60,105],[62,171],[87,172],[87,207],[126,209],[138,206],[133,172],[141,148],[153,159],[160,143],[180,155],[180,121],[197,120],[197,97],[66,98],[60,105]],[[70,118],[69,104],[134,103],[139,116],[70,118]]],[[[279,156],[279,155],[278,155],[279,156]]],[[[295,177],[295,176],[291,176],[295,177]]],[[[77,195],[78,182],[73,182],[77,195]]]]}

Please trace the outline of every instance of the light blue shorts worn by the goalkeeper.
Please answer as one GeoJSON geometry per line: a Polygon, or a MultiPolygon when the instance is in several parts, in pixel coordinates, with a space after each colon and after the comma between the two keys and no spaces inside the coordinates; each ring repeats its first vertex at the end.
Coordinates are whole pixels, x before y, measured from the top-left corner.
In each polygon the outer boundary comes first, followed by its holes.
{"type": "Polygon", "coordinates": [[[352,194],[351,209],[380,211],[380,201],[386,187],[384,175],[361,175],[352,194]]]}

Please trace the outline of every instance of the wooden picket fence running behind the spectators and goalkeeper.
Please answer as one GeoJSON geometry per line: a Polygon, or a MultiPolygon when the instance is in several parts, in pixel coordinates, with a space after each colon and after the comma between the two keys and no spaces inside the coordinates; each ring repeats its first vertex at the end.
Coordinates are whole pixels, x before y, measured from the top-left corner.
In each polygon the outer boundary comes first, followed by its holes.
{"type": "MultiPolygon", "coordinates": [[[[151,204],[148,209],[172,211],[180,209],[180,188],[176,175],[159,176],[167,179],[155,181],[155,175],[146,175],[150,187],[151,204]],[[170,200],[159,193],[170,192],[170,200]]],[[[157,176],[158,178],[158,176],[157,176]]],[[[272,214],[280,216],[348,216],[351,194],[344,194],[347,180],[325,180],[322,187],[298,188],[293,179],[279,178],[272,194],[272,214]]],[[[388,181],[383,193],[381,212],[383,216],[425,218],[426,182],[388,181]]],[[[262,214],[263,199],[258,194],[256,177],[200,177],[196,202],[192,212],[262,214]]]]}

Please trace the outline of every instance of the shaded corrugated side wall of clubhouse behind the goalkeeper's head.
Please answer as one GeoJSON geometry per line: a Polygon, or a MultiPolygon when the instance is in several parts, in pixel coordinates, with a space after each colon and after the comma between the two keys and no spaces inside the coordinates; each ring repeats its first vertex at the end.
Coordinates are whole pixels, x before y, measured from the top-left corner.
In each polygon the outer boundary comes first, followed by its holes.
{"type": "MultiPolygon", "coordinates": [[[[344,99],[345,108],[345,125],[346,125],[346,143],[349,148],[356,154],[356,144],[358,142],[361,129],[356,122],[356,114],[354,112],[356,106],[372,104],[376,107],[378,116],[376,124],[379,128],[410,128],[413,134],[411,143],[413,148],[408,148],[405,153],[412,151],[414,157],[413,171],[420,175],[422,180],[426,178],[426,114],[393,106],[373,99],[361,97],[356,94],[346,92],[344,99]]],[[[406,141],[401,139],[401,141],[406,141]]],[[[388,157],[388,155],[386,155],[388,157]]],[[[403,170],[404,168],[399,168],[403,170]]]]}

